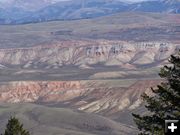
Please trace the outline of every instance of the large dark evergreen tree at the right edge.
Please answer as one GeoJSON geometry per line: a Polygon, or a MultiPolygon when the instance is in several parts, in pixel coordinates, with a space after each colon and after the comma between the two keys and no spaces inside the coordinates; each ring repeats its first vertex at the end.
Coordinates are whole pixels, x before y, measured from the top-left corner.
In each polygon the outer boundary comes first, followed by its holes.
{"type": "Polygon", "coordinates": [[[140,135],[164,135],[164,120],[180,118],[180,52],[171,56],[170,66],[161,69],[163,83],[152,88],[153,96],[143,94],[147,115],[133,114],[140,135]]]}

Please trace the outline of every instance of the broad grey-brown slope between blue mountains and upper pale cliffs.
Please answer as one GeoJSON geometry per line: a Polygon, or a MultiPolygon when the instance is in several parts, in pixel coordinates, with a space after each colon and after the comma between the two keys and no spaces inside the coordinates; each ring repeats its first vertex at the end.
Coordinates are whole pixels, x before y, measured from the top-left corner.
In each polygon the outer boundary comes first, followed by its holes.
{"type": "Polygon", "coordinates": [[[0,25],[0,48],[29,47],[67,39],[175,41],[180,15],[120,13],[96,19],[0,25]]]}

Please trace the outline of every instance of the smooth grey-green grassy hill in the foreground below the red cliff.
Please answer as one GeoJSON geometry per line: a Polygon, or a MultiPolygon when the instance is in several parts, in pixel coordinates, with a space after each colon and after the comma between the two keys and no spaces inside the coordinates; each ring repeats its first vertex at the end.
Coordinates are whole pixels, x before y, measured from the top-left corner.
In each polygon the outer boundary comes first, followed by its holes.
{"type": "Polygon", "coordinates": [[[128,135],[135,129],[108,118],[65,108],[0,103],[0,131],[15,115],[32,135],[128,135]]]}

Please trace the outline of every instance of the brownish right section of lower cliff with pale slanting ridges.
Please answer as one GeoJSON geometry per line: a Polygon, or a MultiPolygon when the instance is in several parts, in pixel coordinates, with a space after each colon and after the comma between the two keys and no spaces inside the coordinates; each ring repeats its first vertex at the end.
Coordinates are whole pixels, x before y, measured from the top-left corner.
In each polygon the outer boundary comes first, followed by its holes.
{"type": "Polygon", "coordinates": [[[141,95],[151,95],[150,88],[160,84],[160,80],[137,81],[128,88],[99,88],[86,95],[79,109],[87,112],[113,114],[124,110],[133,110],[142,104],[141,95]]]}

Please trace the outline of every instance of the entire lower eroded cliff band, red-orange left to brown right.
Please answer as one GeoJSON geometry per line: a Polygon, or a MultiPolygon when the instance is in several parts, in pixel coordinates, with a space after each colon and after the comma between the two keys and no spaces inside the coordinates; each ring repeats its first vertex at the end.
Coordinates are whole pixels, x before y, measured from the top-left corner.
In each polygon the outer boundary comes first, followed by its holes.
{"type": "Polygon", "coordinates": [[[0,86],[0,102],[62,103],[79,110],[113,114],[138,108],[141,94],[151,94],[150,88],[160,80],[137,81],[123,87],[107,87],[81,81],[10,82],[0,86]]]}

